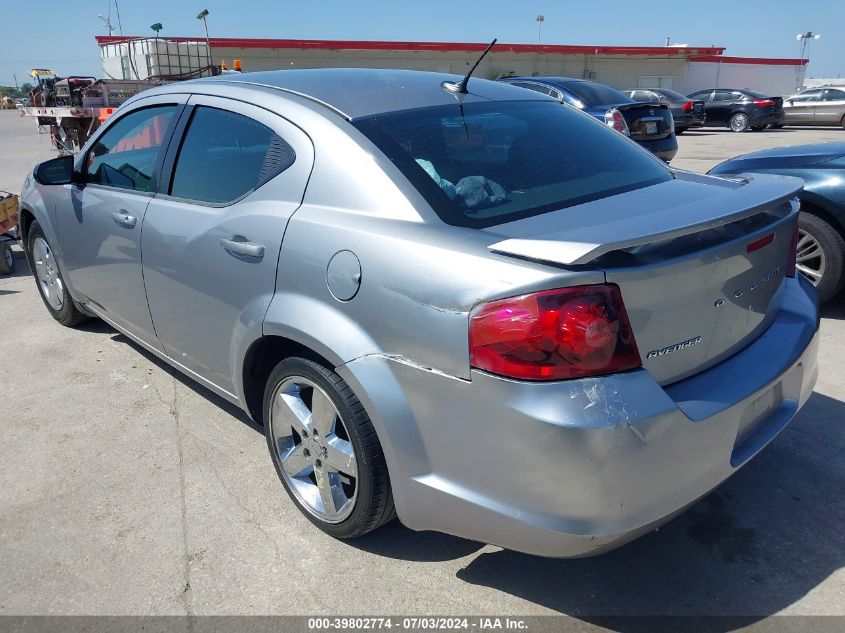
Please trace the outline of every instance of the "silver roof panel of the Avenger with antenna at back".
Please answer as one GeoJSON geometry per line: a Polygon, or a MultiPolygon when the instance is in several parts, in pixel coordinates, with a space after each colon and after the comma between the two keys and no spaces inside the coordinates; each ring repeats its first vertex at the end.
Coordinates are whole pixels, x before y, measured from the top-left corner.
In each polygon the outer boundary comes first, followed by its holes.
{"type": "Polygon", "coordinates": [[[479,77],[470,79],[465,95],[457,95],[443,87],[444,82],[461,79],[461,75],[417,70],[313,68],[226,74],[184,83],[229,82],[275,88],[322,103],[348,119],[458,102],[551,99],[479,77]]]}

